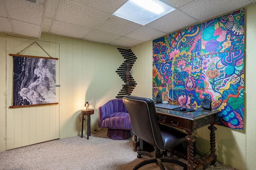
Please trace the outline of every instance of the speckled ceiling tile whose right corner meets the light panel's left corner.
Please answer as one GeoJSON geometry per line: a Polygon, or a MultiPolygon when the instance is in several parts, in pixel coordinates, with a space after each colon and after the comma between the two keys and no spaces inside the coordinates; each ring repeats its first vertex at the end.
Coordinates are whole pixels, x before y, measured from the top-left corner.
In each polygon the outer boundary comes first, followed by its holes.
{"type": "Polygon", "coordinates": [[[88,8],[74,2],[65,1],[60,7],[56,20],[94,28],[102,22],[109,14],[88,8]]]}

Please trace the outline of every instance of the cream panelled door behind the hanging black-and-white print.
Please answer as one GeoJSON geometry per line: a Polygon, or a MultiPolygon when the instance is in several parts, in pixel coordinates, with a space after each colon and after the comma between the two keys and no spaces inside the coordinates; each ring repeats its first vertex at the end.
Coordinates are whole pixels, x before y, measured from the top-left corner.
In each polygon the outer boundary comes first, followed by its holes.
{"type": "MultiPolygon", "coordinates": [[[[12,108],[13,57],[36,41],[51,57],[59,58],[59,44],[22,37],[6,35],[6,134],[7,150],[35,143],[59,139],[59,106],[36,106],[12,108]]],[[[48,57],[36,44],[30,46],[22,55],[48,57]]],[[[59,83],[59,60],[56,60],[56,84],[59,83]]],[[[59,100],[59,88],[56,87],[56,102],[59,100]]]]}

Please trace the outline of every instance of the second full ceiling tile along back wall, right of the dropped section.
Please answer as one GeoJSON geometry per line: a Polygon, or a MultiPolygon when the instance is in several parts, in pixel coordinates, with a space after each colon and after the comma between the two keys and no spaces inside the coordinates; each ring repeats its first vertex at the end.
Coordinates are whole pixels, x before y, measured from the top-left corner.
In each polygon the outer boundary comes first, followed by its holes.
{"type": "Polygon", "coordinates": [[[102,43],[110,43],[118,38],[120,38],[120,35],[112,34],[112,33],[106,33],[99,30],[92,30],[90,33],[88,33],[84,39],[88,41],[96,41],[96,42],[102,42],[102,43]]]}

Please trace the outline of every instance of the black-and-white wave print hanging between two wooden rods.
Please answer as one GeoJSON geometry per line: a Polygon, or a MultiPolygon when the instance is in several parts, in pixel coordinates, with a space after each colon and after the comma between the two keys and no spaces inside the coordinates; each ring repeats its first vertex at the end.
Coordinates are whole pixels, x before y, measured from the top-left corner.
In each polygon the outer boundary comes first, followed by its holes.
{"type": "Polygon", "coordinates": [[[56,61],[13,56],[13,106],[56,102],[56,61]]]}

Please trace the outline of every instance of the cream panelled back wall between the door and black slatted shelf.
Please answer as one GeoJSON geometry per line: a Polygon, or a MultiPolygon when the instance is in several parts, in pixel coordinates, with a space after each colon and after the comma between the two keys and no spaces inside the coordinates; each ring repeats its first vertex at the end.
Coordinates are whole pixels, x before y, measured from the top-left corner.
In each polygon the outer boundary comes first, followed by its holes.
{"type": "Polygon", "coordinates": [[[124,62],[118,47],[47,33],[41,40],[60,44],[60,138],[81,135],[78,117],[85,102],[94,109],[92,128],[100,130],[98,107],[114,99],[124,84],[116,73],[124,62]]]}

